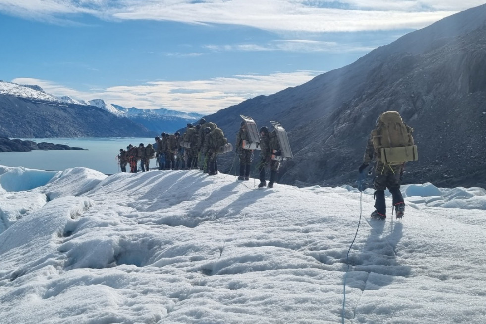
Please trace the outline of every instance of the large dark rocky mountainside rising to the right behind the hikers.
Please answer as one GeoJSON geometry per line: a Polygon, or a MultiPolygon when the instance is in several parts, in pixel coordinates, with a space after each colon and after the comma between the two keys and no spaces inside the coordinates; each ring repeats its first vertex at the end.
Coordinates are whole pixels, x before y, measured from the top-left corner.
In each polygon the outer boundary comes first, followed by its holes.
{"type": "MultiPolygon", "coordinates": [[[[287,130],[279,182],[353,184],[378,115],[400,112],[419,161],[404,183],[486,187],[486,4],[444,18],[297,87],[207,116],[234,143],[240,114],[287,130]]],[[[258,155],[258,151],[255,151],[258,155]]],[[[221,169],[232,157],[221,156],[221,169]]],[[[256,157],[255,160],[258,160],[256,157]]]]}

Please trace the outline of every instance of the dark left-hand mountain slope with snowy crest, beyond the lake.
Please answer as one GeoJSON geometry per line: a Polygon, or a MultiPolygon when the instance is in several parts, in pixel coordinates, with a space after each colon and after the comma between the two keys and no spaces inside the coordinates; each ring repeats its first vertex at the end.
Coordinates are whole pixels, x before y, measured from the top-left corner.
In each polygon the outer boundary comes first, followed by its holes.
{"type": "Polygon", "coordinates": [[[127,118],[92,105],[68,103],[37,86],[0,81],[0,136],[152,137],[127,118]]]}

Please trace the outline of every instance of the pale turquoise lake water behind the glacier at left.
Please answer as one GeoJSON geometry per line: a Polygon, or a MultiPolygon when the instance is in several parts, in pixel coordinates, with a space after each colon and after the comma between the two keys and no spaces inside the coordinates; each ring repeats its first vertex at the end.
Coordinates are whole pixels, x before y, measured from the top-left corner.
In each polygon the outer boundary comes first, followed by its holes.
{"type": "MultiPolygon", "coordinates": [[[[36,143],[48,142],[65,144],[70,147],[82,147],[88,151],[31,151],[0,152],[0,164],[5,166],[23,166],[29,169],[62,171],[76,166],[87,167],[105,174],[120,172],[116,156],[120,149],[128,144],[138,146],[154,143],[153,138],[23,138],[36,143]]],[[[155,167],[155,159],[150,161],[155,167]]]]}

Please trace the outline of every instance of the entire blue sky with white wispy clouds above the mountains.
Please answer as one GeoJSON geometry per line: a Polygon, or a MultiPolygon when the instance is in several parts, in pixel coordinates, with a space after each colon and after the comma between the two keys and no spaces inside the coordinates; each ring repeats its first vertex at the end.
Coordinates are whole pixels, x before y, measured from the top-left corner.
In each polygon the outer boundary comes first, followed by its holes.
{"type": "Polygon", "coordinates": [[[0,80],[212,113],[345,66],[483,0],[0,0],[0,80]]]}

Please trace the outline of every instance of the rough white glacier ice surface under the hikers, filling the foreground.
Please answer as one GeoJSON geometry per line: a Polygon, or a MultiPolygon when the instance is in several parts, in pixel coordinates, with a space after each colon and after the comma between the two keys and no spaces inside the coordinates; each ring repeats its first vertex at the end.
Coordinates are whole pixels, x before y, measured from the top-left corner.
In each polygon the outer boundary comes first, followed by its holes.
{"type": "Polygon", "coordinates": [[[2,324],[335,324],[345,277],[344,323],[486,323],[480,188],[403,186],[374,221],[371,189],[0,170],[2,324]]]}

